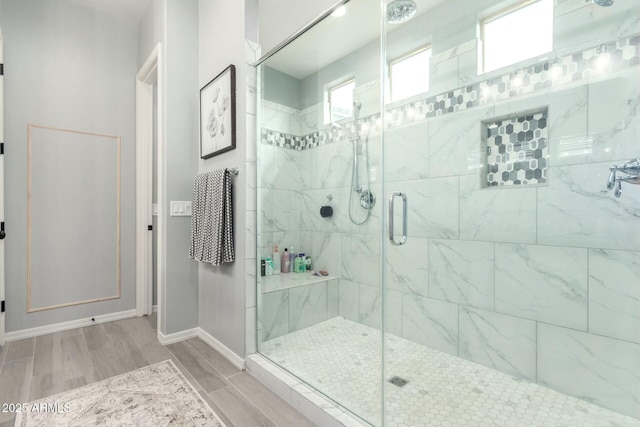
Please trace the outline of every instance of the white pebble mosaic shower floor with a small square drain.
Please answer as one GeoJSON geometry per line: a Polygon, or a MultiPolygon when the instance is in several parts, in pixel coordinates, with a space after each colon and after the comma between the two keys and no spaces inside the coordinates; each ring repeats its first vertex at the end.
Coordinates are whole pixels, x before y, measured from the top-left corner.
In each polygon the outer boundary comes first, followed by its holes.
{"type": "MultiPolygon", "coordinates": [[[[266,341],[261,353],[380,425],[380,335],[336,317],[266,341]]],[[[386,426],[621,426],[640,421],[496,370],[387,336],[386,426]]]]}

